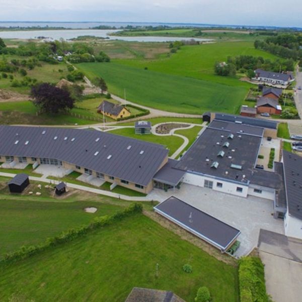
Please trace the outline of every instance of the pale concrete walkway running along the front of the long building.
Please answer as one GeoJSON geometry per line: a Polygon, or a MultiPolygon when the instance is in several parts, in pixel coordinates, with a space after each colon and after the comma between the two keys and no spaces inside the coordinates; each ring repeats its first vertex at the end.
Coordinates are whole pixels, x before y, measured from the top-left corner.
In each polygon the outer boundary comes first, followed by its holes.
{"type": "MultiPolygon", "coordinates": [[[[0,172],[0,176],[14,177],[14,176],[16,176],[16,174],[0,172]]],[[[48,179],[44,176],[42,176],[42,177],[29,176],[29,179],[32,180],[32,181],[44,182],[44,183],[47,183],[47,184],[55,184],[55,185],[57,185],[58,183],[61,182],[61,181],[58,181],[58,180],[48,179]]],[[[105,191],[105,190],[101,190],[101,189],[97,189],[97,188],[86,187],[84,185],[82,186],[82,185],[77,185],[77,184],[68,183],[68,182],[66,182],[66,185],[69,188],[83,190],[83,191],[86,191],[86,192],[91,192],[91,193],[96,193],[96,194],[101,194],[101,195],[106,195],[106,196],[119,198],[119,199],[123,199],[123,200],[127,200],[127,201],[151,201],[152,200],[152,199],[148,198],[148,196],[145,196],[145,197],[143,197],[143,196],[142,197],[128,196],[128,195],[117,194],[117,193],[113,193],[113,192],[110,192],[110,191],[105,191]]]]}

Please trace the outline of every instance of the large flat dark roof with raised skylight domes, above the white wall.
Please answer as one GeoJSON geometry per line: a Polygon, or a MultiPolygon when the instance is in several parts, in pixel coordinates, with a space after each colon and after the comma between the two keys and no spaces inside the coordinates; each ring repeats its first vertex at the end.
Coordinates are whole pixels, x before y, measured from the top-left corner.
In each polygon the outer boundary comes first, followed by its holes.
{"type": "Polygon", "coordinates": [[[214,120],[195,140],[176,168],[247,184],[257,161],[262,133],[263,128],[214,120]],[[234,135],[233,139],[230,134],[234,135]],[[229,146],[225,145],[226,142],[229,146]],[[221,150],[224,152],[222,157],[219,156],[221,150]],[[212,167],[214,162],[218,163],[216,168],[212,167]],[[231,164],[242,169],[233,169],[231,164]]]}

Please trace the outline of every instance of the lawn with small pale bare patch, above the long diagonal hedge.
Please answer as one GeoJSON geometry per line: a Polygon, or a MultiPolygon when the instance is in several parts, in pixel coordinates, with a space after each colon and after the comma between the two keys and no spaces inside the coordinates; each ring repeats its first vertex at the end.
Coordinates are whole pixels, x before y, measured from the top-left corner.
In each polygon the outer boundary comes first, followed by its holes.
{"type": "MultiPolygon", "coordinates": [[[[30,196],[0,196],[0,259],[23,245],[44,242],[46,238],[88,223],[95,216],[110,215],[122,207],[81,200],[78,196],[57,199],[30,196]],[[95,206],[94,214],[84,211],[95,206]]],[[[0,299],[1,300],[1,299],[0,299]]]]}

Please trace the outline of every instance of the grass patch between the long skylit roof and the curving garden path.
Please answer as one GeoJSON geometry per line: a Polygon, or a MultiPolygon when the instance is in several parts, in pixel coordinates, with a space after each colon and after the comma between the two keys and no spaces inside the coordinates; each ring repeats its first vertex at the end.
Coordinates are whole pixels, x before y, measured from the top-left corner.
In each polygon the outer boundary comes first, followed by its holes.
{"type": "Polygon", "coordinates": [[[154,134],[135,134],[134,128],[121,128],[117,130],[109,131],[109,133],[114,133],[118,135],[128,136],[131,138],[141,139],[149,142],[159,143],[167,146],[169,151],[169,156],[171,156],[183,143],[183,139],[177,136],[158,136],[154,134]]]}

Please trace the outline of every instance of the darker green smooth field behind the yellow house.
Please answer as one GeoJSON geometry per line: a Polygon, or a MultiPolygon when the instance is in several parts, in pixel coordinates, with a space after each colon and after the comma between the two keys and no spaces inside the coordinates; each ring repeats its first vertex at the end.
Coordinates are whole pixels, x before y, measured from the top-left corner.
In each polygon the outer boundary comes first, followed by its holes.
{"type": "Polygon", "coordinates": [[[103,77],[112,94],[123,97],[126,89],[127,100],[171,112],[202,114],[210,110],[233,113],[239,110],[247,93],[246,87],[144,70],[118,62],[81,63],[77,66],[91,79],[103,77]]]}

